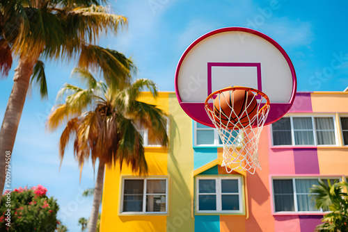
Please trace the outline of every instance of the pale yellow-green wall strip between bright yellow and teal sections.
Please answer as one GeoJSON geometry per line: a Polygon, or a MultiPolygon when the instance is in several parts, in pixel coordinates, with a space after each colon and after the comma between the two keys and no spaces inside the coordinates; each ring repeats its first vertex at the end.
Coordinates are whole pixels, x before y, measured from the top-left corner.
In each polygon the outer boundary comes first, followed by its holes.
{"type": "Polygon", "coordinates": [[[171,148],[168,151],[168,174],[171,176],[168,232],[194,231],[191,217],[193,197],[192,119],[184,113],[175,93],[169,94],[171,113],[171,148]]]}

